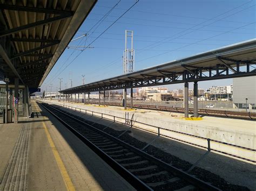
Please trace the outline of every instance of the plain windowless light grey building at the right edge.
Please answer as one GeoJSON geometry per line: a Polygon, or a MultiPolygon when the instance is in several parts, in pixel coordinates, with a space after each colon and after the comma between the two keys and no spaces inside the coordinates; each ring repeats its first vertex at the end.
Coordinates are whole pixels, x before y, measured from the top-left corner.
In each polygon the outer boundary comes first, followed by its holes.
{"type": "Polygon", "coordinates": [[[256,76],[233,79],[233,107],[256,109],[256,76]],[[247,98],[247,106],[246,106],[247,98]]]}

